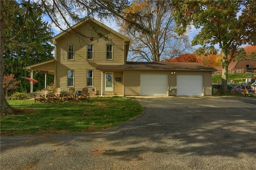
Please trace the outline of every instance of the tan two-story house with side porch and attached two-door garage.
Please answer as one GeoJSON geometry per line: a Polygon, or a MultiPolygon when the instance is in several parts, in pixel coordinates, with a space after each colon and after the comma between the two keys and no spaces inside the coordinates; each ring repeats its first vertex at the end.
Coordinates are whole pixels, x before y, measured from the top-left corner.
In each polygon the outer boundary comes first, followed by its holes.
{"type": "Polygon", "coordinates": [[[170,89],[175,95],[212,94],[216,69],[199,63],[128,62],[130,40],[90,17],[50,42],[54,59],[25,69],[54,74],[54,86],[65,91],[88,87],[91,93],[96,87],[100,95],[168,96],[170,89]]]}

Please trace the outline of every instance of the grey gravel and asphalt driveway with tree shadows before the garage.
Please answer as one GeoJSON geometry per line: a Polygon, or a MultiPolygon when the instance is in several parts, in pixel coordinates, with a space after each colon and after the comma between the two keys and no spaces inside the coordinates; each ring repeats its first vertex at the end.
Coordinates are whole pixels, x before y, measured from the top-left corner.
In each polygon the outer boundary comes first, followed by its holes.
{"type": "Polygon", "coordinates": [[[91,133],[1,137],[1,170],[255,170],[256,99],[136,97],[144,114],[91,133]]]}

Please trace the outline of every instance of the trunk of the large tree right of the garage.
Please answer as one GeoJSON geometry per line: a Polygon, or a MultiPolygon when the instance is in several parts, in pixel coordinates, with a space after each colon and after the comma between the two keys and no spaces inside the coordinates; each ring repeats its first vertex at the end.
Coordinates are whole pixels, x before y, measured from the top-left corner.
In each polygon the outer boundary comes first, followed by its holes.
{"type": "Polygon", "coordinates": [[[228,93],[228,53],[226,51],[222,51],[222,75],[221,75],[221,93],[228,93]]]}

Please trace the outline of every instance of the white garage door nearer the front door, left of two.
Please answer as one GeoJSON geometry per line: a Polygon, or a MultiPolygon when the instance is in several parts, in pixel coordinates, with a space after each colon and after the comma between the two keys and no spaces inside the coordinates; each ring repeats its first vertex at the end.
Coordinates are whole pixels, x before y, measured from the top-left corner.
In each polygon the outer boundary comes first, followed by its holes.
{"type": "Polygon", "coordinates": [[[141,96],[167,96],[168,75],[167,74],[141,74],[140,75],[141,96]]]}

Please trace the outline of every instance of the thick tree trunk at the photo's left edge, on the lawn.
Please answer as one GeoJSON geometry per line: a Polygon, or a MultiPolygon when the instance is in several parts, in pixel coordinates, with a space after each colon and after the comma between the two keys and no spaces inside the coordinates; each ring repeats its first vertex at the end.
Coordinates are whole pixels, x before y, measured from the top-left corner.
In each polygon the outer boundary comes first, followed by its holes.
{"type": "Polygon", "coordinates": [[[0,0],[0,100],[1,107],[0,113],[4,115],[13,114],[13,109],[10,107],[9,103],[6,101],[4,97],[4,89],[3,89],[3,74],[4,74],[4,33],[6,29],[6,24],[4,21],[4,9],[3,9],[4,1],[0,0]]]}

